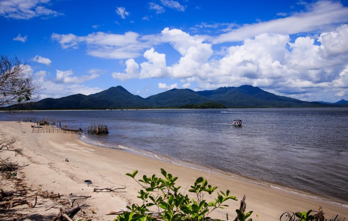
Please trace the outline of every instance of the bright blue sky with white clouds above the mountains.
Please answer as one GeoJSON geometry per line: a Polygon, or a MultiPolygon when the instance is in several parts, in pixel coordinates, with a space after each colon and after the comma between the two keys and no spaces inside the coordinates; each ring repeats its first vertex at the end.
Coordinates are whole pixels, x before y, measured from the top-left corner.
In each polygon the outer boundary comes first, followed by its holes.
{"type": "Polygon", "coordinates": [[[0,26],[41,99],[247,84],[348,100],[347,0],[0,0],[0,26]]]}

